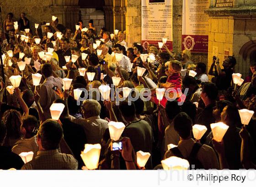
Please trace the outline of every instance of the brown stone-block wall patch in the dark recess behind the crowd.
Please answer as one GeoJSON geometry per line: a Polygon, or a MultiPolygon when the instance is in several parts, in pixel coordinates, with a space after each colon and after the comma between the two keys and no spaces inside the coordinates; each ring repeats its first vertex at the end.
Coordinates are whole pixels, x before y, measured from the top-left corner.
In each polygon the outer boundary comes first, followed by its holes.
{"type": "Polygon", "coordinates": [[[80,18],[85,27],[88,27],[89,20],[93,20],[94,26],[97,28],[98,34],[102,27],[105,27],[104,12],[102,10],[96,10],[94,8],[80,9],[80,18]]]}

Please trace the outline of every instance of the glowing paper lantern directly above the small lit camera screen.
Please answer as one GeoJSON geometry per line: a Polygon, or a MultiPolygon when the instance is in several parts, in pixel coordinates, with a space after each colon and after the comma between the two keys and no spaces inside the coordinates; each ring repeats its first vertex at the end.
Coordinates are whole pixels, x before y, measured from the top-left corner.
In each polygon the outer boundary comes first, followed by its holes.
{"type": "Polygon", "coordinates": [[[117,141],[123,133],[125,125],[122,122],[110,121],[108,123],[108,129],[111,140],[117,141]]]}

